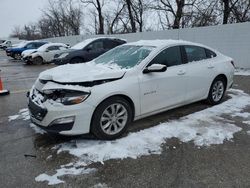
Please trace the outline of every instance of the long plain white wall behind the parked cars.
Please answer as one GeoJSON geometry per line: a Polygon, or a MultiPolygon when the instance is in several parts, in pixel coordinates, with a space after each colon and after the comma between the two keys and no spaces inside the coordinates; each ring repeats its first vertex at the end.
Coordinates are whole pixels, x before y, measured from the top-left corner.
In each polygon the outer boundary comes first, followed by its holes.
{"type": "MultiPolygon", "coordinates": [[[[100,36],[100,35],[98,35],[100,36]]],[[[96,35],[78,35],[46,39],[74,45],[96,35]]],[[[107,36],[107,35],[103,35],[107,36]]],[[[109,35],[111,36],[111,35],[109,35]]],[[[235,60],[240,68],[250,68],[250,22],[179,30],[112,35],[128,42],[146,39],[183,39],[213,47],[235,60]]]]}

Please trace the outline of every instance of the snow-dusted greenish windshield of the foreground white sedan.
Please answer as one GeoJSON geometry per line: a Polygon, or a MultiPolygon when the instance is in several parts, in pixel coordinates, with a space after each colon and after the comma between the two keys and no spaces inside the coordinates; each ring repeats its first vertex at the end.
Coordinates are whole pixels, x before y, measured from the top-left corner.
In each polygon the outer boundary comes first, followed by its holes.
{"type": "Polygon", "coordinates": [[[145,59],[154,48],[153,46],[119,46],[96,58],[94,62],[97,64],[115,64],[121,68],[131,68],[145,59]]]}

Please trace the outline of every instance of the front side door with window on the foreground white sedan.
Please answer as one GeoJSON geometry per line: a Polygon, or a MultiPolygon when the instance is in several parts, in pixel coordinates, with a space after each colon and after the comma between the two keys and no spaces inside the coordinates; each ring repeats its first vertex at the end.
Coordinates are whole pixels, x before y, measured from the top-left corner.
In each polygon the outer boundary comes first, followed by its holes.
{"type": "Polygon", "coordinates": [[[141,73],[139,76],[141,114],[177,106],[185,101],[186,64],[180,46],[166,48],[149,64],[164,64],[165,72],[141,73]]]}

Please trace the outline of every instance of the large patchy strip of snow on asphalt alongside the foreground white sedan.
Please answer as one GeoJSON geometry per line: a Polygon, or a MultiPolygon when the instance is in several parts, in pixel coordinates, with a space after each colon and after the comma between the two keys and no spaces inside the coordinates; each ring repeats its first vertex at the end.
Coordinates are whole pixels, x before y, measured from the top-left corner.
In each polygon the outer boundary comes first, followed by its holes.
{"type": "MultiPolygon", "coordinates": [[[[167,139],[176,137],[182,142],[193,142],[196,146],[210,146],[212,144],[223,144],[225,140],[232,140],[233,135],[241,128],[227,120],[222,115],[244,113],[243,110],[250,105],[250,96],[240,90],[231,90],[232,98],[220,105],[207,108],[169,122],[161,123],[152,128],[139,132],[130,133],[128,136],[114,141],[98,140],[74,140],[54,147],[57,153],[67,151],[77,156],[79,161],[74,166],[83,164],[87,166],[92,163],[104,163],[110,159],[136,159],[144,155],[161,154],[162,144],[167,139]],[[157,135],[157,136],[156,136],[157,135]],[[136,144],[135,144],[136,143],[136,144]]],[[[65,170],[65,166],[61,169],[65,170]]],[[[60,170],[49,176],[39,175],[36,180],[48,181],[49,183],[60,183],[60,170]],[[42,176],[42,178],[41,178],[42,176]],[[53,182],[51,181],[54,180],[53,182]]],[[[69,168],[72,171],[72,168],[69,168]]],[[[62,171],[63,171],[62,170],[62,171]]],[[[77,173],[76,173],[77,174],[77,173]]],[[[63,174],[64,175],[64,174],[63,174]]]]}

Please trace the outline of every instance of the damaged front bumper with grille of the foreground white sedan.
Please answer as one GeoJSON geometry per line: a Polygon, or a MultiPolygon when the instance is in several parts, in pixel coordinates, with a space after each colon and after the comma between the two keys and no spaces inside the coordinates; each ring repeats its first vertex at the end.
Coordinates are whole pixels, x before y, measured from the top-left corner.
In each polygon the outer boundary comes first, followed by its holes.
{"type": "Polygon", "coordinates": [[[61,135],[80,135],[90,131],[94,107],[87,103],[65,106],[43,101],[41,93],[31,89],[28,96],[28,109],[31,122],[46,132],[61,135]]]}

